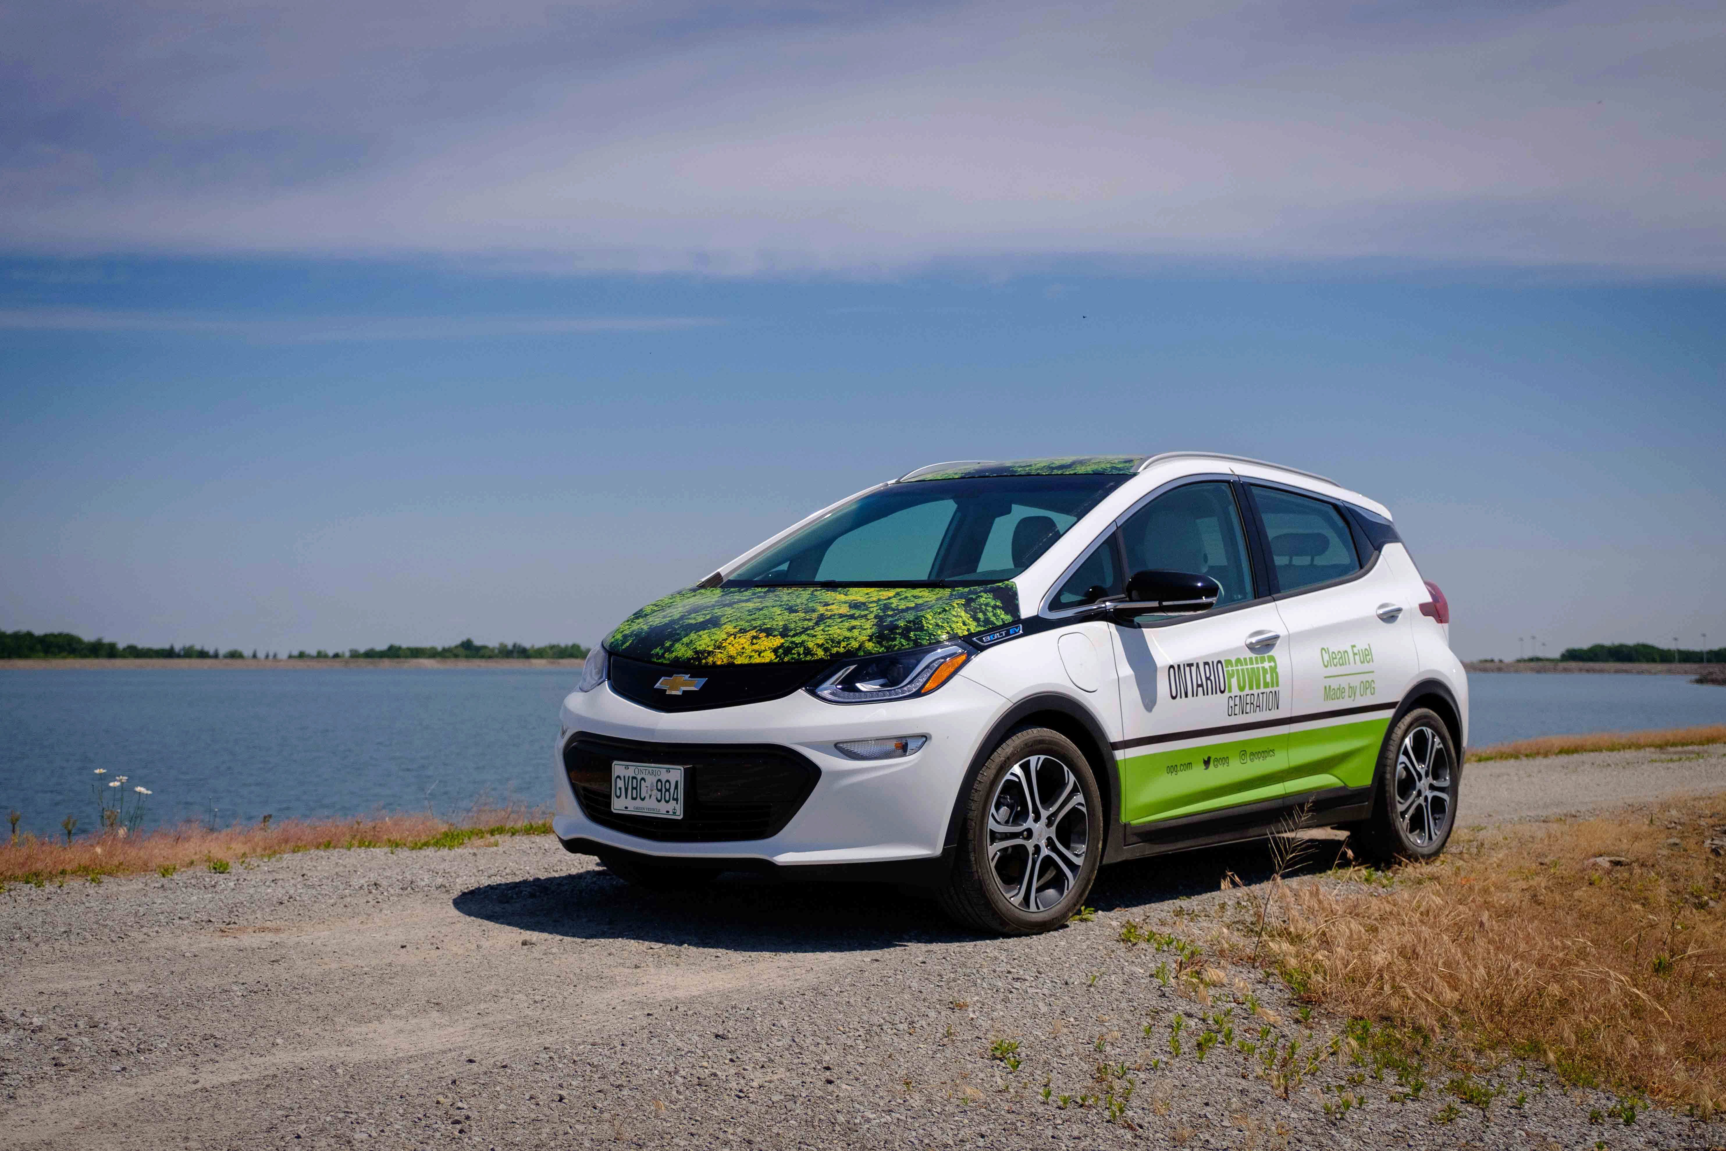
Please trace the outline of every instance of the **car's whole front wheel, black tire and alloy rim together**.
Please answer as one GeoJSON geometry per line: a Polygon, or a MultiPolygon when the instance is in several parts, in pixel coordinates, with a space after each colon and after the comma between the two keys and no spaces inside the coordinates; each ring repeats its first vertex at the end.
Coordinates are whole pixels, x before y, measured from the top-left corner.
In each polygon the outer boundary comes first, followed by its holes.
{"type": "Polygon", "coordinates": [[[1034,935],[1072,918],[1103,859],[1103,796],[1084,752],[1049,728],[1011,732],[960,802],[965,818],[958,852],[937,892],[942,909],[998,935],[1034,935]],[[1043,794],[1068,780],[1070,790],[1043,794]],[[1075,794],[1082,809],[1074,806],[1075,794]],[[994,823],[991,815],[998,816],[994,823]],[[996,830],[1001,827],[1022,827],[1024,840],[996,830]],[[1010,894],[1006,887],[1015,882],[1010,894]]]}

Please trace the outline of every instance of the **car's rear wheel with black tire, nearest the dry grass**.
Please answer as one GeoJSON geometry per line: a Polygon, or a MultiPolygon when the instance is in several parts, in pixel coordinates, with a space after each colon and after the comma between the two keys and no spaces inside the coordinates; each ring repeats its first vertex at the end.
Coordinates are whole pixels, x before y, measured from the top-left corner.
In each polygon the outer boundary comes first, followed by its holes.
{"type": "Polygon", "coordinates": [[[1357,854],[1372,863],[1438,856],[1457,827],[1460,789],[1462,763],[1450,726],[1436,711],[1415,708],[1384,733],[1372,815],[1350,827],[1357,854]]]}

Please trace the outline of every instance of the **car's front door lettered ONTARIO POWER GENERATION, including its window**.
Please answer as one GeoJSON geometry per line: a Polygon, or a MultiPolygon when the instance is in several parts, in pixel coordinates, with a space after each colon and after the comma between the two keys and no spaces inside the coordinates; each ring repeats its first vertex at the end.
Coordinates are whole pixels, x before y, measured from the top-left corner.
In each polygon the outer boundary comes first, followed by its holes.
{"type": "Polygon", "coordinates": [[[1282,618],[1253,578],[1229,480],[1158,495],[1120,525],[1127,573],[1191,571],[1222,585],[1196,616],[1117,625],[1122,823],[1281,799],[1288,770],[1282,618]]]}

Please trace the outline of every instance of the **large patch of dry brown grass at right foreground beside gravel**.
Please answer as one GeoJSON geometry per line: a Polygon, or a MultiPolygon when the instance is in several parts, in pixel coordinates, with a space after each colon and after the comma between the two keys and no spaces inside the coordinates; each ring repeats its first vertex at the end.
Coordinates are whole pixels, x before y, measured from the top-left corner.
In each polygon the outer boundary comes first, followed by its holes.
{"type": "Polygon", "coordinates": [[[1402,868],[1389,890],[1300,885],[1270,946],[1298,992],[1348,1015],[1714,1115],[1723,839],[1726,796],[1509,828],[1402,868]]]}

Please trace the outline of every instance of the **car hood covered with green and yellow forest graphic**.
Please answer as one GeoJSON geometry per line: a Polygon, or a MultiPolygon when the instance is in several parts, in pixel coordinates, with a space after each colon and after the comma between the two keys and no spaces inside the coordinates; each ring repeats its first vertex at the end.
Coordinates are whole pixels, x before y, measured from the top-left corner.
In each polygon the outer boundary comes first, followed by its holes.
{"type": "Polygon", "coordinates": [[[923,647],[1017,618],[1018,590],[1010,582],[685,588],[618,625],[606,651],[683,666],[801,663],[923,647]]]}

